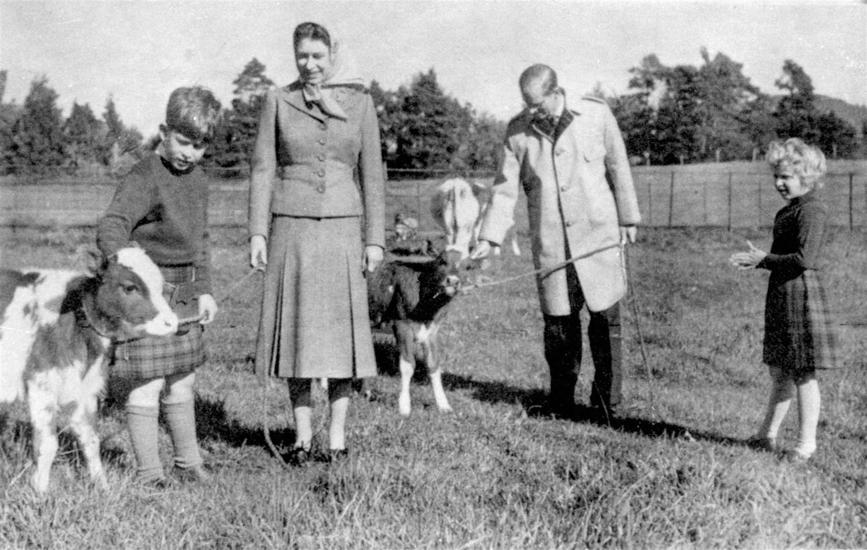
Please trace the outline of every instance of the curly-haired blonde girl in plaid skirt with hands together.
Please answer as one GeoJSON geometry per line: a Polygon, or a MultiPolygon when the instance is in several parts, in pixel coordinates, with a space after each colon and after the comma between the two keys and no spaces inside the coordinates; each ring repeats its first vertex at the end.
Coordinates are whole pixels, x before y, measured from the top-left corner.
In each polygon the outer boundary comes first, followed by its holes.
{"type": "Polygon", "coordinates": [[[792,138],[768,146],[766,160],[774,184],[788,204],[773,222],[771,252],[750,249],[731,256],[740,269],[771,271],[765,302],[765,347],[772,388],[765,420],[748,439],[753,446],[777,449],[777,433],[792,397],[798,396],[798,443],[784,453],[804,463],[816,450],[819,391],[816,371],[837,367],[836,339],[825,304],[821,267],[828,210],[822,200],[825,155],[792,138]]]}

